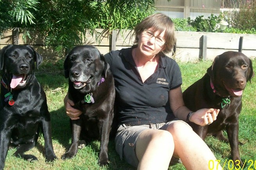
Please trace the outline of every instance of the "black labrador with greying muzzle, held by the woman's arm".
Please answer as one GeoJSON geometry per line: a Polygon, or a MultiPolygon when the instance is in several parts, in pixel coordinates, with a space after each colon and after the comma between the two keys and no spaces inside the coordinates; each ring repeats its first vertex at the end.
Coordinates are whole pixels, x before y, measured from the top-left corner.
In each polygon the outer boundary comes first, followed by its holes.
{"type": "Polygon", "coordinates": [[[80,119],[71,120],[72,144],[61,158],[72,158],[81,144],[100,139],[98,163],[106,165],[115,100],[109,65],[95,46],[76,46],[66,56],[64,73],[69,78],[68,96],[83,114],[80,119]]]}

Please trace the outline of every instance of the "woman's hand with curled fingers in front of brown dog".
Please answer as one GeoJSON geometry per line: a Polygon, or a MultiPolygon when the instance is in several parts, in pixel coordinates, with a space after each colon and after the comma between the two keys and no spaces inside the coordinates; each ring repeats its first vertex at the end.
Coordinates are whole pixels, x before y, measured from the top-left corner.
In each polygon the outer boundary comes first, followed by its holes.
{"type": "Polygon", "coordinates": [[[190,115],[189,120],[200,126],[213,123],[217,119],[220,109],[200,109],[190,115]]]}

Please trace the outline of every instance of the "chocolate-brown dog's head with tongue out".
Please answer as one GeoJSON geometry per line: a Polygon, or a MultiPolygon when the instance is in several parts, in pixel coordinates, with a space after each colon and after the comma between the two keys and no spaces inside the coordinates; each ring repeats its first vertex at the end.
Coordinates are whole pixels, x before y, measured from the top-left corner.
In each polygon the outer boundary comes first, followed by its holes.
{"type": "Polygon", "coordinates": [[[207,73],[220,96],[241,96],[254,76],[252,61],[243,53],[227,51],[215,57],[207,73]]]}

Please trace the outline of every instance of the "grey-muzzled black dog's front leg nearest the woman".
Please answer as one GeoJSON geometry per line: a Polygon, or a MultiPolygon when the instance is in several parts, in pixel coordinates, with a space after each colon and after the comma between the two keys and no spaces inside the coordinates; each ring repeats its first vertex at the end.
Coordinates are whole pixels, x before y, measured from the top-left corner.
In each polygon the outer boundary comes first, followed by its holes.
{"type": "MultiPolygon", "coordinates": [[[[107,118],[109,119],[109,117],[107,118]]],[[[109,163],[108,160],[108,142],[109,142],[109,133],[111,128],[111,123],[109,120],[99,121],[98,127],[100,132],[100,154],[98,158],[98,163],[100,166],[107,165],[109,163]]]]}

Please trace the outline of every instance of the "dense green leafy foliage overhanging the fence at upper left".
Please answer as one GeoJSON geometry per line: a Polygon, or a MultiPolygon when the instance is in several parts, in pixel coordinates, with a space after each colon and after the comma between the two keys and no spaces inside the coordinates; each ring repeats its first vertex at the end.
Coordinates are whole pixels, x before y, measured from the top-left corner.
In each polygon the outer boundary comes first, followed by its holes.
{"type": "Polygon", "coordinates": [[[96,28],[133,29],[152,14],[154,0],[0,0],[0,31],[18,27],[23,39],[43,37],[59,54],[82,44],[96,28]]]}

